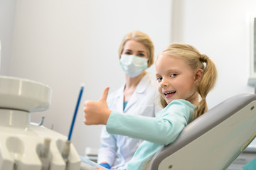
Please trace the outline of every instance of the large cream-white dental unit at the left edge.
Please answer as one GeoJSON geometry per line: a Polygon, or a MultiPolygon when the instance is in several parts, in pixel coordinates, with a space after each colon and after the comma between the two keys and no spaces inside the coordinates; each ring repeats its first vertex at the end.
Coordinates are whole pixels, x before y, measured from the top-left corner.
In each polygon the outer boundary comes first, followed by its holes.
{"type": "Polygon", "coordinates": [[[80,157],[70,141],[68,157],[62,157],[65,135],[30,123],[31,113],[46,111],[50,99],[49,86],[0,76],[0,170],[80,169],[80,157]]]}

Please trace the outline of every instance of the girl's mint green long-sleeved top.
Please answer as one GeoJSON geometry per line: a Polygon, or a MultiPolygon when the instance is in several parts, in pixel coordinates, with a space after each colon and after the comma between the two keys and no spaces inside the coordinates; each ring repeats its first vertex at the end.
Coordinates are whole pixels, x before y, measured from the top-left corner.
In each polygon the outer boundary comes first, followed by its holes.
{"type": "Polygon", "coordinates": [[[112,111],[107,120],[107,132],[145,140],[124,170],[144,169],[161,147],[176,140],[193,118],[195,108],[190,102],[178,99],[169,103],[156,118],[112,111]]]}

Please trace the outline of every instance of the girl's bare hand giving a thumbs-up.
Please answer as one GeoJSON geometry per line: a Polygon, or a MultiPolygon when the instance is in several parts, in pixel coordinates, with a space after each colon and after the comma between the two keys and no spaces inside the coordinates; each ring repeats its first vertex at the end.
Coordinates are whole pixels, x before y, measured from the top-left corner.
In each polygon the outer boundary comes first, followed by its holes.
{"type": "Polygon", "coordinates": [[[110,109],[107,106],[107,95],[110,87],[106,87],[99,101],[85,101],[85,125],[106,125],[110,117],[110,109]]]}

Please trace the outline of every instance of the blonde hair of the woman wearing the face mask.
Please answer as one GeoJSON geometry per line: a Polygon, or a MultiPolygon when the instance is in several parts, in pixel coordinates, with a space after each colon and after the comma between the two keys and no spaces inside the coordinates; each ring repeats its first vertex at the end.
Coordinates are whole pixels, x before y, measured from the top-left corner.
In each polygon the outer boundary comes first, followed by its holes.
{"type": "Polygon", "coordinates": [[[136,40],[137,42],[141,42],[143,45],[146,46],[149,55],[149,68],[154,63],[154,44],[151,38],[149,38],[149,35],[146,35],[145,33],[142,33],[139,30],[134,30],[131,33],[127,33],[127,35],[124,35],[124,39],[122,40],[121,45],[119,47],[119,59],[121,58],[125,43],[129,40],[136,40]]]}

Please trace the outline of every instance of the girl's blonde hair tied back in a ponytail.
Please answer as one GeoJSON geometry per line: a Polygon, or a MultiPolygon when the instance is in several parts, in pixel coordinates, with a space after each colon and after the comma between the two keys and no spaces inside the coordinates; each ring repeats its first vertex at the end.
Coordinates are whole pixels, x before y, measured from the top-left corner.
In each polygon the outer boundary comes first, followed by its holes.
{"type": "MultiPolygon", "coordinates": [[[[213,86],[217,79],[217,69],[212,60],[210,60],[207,55],[201,55],[201,53],[193,46],[174,43],[166,47],[166,49],[161,52],[161,55],[171,55],[175,57],[181,57],[186,63],[191,67],[193,71],[197,69],[203,69],[203,77],[196,84],[196,90],[201,96],[201,101],[198,104],[198,107],[195,110],[195,115],[193,120],[198,118],[200,115],[203,115],[208,111],[206,96],[213,86]]],[[[160,100],[161,106],[167,106],[164,98],[161,97],[160,100]]]]}

